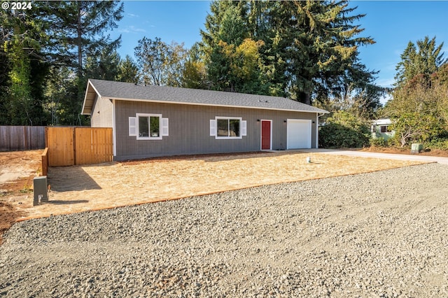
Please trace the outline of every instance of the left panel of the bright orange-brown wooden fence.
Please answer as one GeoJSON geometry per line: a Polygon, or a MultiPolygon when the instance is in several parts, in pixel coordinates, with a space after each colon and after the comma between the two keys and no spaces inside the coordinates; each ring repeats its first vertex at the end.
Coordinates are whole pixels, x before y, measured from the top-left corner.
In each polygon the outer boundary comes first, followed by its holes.
{"type": "Polygon", "coordinates": [[[74,127],[47,127],[45,129],[48,147],[48,166],[73,166],[74,127]]]}

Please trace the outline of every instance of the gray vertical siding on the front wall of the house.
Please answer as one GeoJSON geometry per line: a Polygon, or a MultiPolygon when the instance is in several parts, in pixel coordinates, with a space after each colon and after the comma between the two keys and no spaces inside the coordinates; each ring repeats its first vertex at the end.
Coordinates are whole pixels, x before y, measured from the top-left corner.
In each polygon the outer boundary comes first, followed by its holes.
{"type": "Polygon", "coordinates": [[[316,113],[116,100],[116,159],[258,151],[261,130],[258,120],[272,120],[272,149],[286,150],[287,119],[312,121],[311,146],[315,148],[316,113]],[[136,113],[162,114],[162,118],[168,118],[169,136],[163,136],[162,140],[137,140],[136,136],[129,136],[129,118],[135,117],[136,113]],[[246,136],[242,139],[215,139],[210,136],[210,120],[216,116],[246,120],[246,136]]]}

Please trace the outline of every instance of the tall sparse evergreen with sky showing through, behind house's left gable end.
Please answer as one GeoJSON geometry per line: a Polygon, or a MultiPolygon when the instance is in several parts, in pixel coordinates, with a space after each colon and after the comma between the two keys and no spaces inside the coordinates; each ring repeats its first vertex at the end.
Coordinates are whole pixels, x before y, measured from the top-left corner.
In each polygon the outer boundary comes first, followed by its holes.
{"type": "Polygon", "coordinates": [[[67,66],[76,73],[73,94],[67,94],[72,104],[65,108],[68,114],[64,124],[82,125],[87,122],[80,116],[85,92],[85,64],[87,57],[101,55],[105,48],[115,50],[120,37],[111,41],[105,32],[118,27],[123,17],[123,3],[120,1],[46,1],[45,20],[49,24],[50,54],[52,63],[67,66]],[[76,90],[76,91],[75,91],[76,90]]]}

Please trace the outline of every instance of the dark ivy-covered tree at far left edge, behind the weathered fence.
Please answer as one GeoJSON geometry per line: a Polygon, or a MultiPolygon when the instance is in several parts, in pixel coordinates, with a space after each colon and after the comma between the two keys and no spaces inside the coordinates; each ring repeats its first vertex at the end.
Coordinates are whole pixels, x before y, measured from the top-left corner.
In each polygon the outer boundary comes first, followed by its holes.
{"type": "Polygon", "coordinates": [[[43,90],[48,64],[41,48],[45,45],[44,24],[38,8],[0,10],[0,122],[6,125],[42,125],[43,90]]]}

